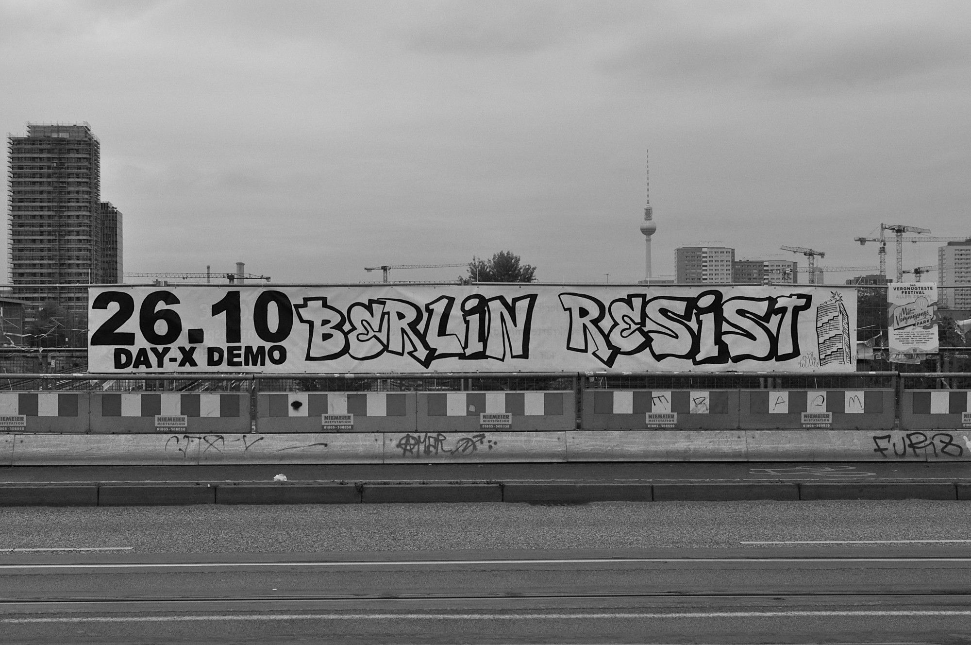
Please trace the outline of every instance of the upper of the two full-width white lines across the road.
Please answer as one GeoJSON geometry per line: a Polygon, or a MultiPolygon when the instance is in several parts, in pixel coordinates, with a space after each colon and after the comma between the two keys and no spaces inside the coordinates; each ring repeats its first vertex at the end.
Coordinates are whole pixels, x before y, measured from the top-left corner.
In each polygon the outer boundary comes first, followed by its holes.
{"type": "Polygon", "coordinates": [[[247,568],[285,566],[440,566],[450,564],[624,564],[635,562],[971,562],[971,557],[954,558],[585,558],[563,560],[346,560],[346,561],[263,561],[263,562],[78,562],[0,564],[7,569],[162,569],[162,568],[247,568]]]}

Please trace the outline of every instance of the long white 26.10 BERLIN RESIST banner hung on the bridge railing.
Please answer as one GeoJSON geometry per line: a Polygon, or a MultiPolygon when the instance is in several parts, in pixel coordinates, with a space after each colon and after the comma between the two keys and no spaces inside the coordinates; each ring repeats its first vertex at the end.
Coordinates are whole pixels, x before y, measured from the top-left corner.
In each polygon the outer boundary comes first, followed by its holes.
{"type": "Polygon", "coordinates": [[[92,372],[853,371],[855,289],[99,287],[92,372]]]}

